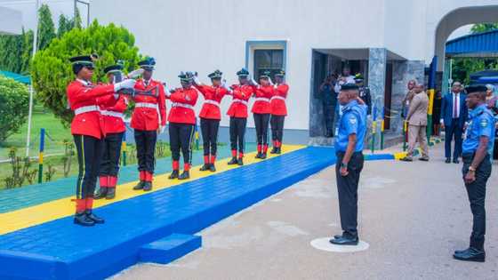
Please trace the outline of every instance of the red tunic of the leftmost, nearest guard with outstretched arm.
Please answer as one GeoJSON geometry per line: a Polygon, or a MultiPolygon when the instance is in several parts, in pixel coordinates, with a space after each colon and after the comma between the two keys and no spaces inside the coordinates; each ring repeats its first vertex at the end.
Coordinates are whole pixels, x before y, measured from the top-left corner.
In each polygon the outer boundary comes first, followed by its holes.
{"type": "Polygon", "coordinates": [[[100,115],[99,105],[114,100],[113,93],[113,84],[92,85],[78,80],[68,84],[69,106],[75,111],[71,133],[98,139],[104,137],[104,119],[100,115]]]}

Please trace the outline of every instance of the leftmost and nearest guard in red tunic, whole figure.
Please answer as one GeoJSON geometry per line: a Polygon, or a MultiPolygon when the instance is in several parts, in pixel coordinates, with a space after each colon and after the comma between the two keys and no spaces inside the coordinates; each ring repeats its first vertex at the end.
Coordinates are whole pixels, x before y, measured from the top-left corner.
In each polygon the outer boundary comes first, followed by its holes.
{"type": "Polygon", "coordinates": [[[75,224],[93,226],[104,220],[92,213],[93,192],[100,169],[103,138],[105,137],[104,118],[100,105],[117,100],[115,92],[133,88],[134,80],[124,80],[117,84],[92,84],[93,60],[96,55],[71,58],[76,81],[68,85],[68,105],[75,112],[71,123],[78,158],[78,178],[76,183],[75,224]]]}

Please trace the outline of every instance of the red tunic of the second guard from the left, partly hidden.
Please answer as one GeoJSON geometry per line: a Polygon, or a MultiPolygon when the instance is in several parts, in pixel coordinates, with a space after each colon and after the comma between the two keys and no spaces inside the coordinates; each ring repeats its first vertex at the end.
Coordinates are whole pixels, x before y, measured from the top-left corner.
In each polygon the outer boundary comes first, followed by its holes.
{"type": "Polygon", "coordinates": [[[104,131],[106,133],[121,133],[124,126],[124,111],[128,107],[128,98],[120,95],[117,100],[109,100],[100,105],[100,114],[104,116],[104,131]]]}

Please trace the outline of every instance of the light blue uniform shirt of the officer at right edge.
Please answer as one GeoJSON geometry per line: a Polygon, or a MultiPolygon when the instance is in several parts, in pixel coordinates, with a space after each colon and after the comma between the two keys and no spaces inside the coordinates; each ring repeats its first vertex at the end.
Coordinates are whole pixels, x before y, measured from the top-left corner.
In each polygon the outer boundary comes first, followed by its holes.
{"type": "Polygon", "coordinates": [[[493,113],[486,108],[486,104],[470,110],[469,124],[463,134],[462,152],[464,154],[474,153],[478,149],[479,138],[486,136],[489,139],[487,152],[493,155],[494,121],[493,113]]]}

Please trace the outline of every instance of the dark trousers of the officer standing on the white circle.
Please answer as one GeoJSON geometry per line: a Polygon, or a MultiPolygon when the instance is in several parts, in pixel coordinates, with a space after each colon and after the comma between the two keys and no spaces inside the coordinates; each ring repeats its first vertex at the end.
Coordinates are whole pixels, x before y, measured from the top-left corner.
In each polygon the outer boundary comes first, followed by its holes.
{"type": "Polygon", "coordinates": [[[357,187],[359,174],[363,169],[363,153],[354,152],[349,160],[346,176],[341,176],[341,161],[344,152],[337,152],[335,164],[335,177],[337,192],[339,194],[339,213],[341,215],[341,228],[344,236],[357,237],[357,187]]]}

